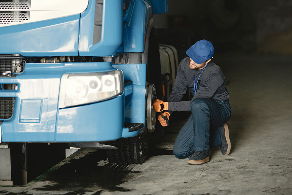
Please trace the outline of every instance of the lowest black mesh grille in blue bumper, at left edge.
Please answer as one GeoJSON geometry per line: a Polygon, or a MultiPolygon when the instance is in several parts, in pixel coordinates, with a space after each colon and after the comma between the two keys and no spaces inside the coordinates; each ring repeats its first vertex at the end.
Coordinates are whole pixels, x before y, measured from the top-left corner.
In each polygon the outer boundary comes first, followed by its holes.
{"type": "Polygon", "coordinates": [[[0,119],[9,119],[13,115],[15,97],[0,97],[0,119]]]}

